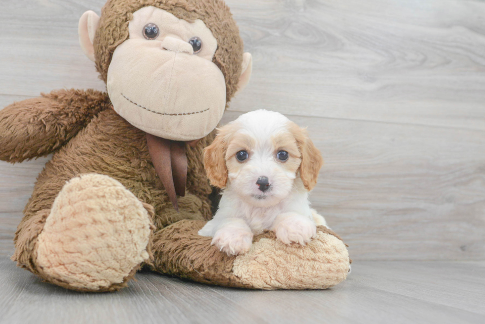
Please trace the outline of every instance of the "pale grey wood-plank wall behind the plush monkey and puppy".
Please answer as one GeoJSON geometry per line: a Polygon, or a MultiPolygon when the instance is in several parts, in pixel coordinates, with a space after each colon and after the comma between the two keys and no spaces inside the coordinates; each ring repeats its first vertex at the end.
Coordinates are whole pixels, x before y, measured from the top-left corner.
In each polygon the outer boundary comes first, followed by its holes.
{"type": "MultiPolygon", "coordinates": [[[[0,2],[0,108],[104,90],[77,20],[104,0],[0,2]]],[[[267,108],[308,126],[314,206],[356,260],[485,260],[485,2],[228,0],[253,77],[224,121],[267,108]]],[[[48,158],[0,163],[0,254],[48,158]]]]}

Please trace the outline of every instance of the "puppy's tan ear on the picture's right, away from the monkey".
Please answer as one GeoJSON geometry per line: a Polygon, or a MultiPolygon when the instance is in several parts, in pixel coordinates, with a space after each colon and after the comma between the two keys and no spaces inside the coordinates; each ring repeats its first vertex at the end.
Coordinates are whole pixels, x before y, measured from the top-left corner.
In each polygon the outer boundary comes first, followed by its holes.
{"type": "Polygon", "coordinates": [[[296,139],[301,153],[301,164],[299,167],[301,181],[305,188],[310,191],[317,184],[318,173],[323,165],[322,154],[308,137],[306,129],[300,128],[293,122],[290,122],[289,129],[296,139]]]}

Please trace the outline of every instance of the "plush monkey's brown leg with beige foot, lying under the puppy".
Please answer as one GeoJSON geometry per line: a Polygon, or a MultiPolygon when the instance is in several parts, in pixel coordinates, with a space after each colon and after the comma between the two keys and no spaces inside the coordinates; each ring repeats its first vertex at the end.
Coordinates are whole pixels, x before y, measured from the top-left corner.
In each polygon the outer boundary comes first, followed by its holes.
{"type": "Polygon", "coordinates": [[[317,227],[317,237],[306,246],[285,245],[274,232],[267,232],[254,238],[247,253],[227,256],[210,245],[211,237],[197,234],[204,224],[180,221],[157,232],[155,270],[204,283],[255,289],[325,289],[347,278],[347,248],[326,227],[317,227]]]}

